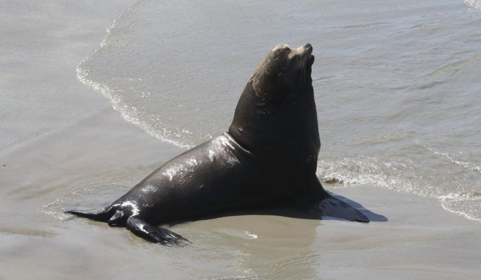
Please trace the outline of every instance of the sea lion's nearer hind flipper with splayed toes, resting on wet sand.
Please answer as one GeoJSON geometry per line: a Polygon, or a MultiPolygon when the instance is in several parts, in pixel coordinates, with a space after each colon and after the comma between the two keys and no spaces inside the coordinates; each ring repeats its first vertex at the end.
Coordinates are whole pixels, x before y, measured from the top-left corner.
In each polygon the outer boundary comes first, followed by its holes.
{"type": "Polygon", "coordinates": [[[126,227],[135,235],[162,245],[183,246],[185,242],[190,242],[179,234],[165,228],[153,226],[138,216],[129,217],[126,227]]]}

